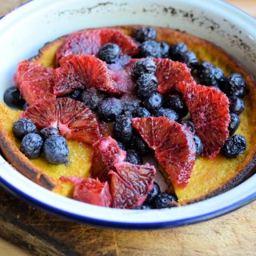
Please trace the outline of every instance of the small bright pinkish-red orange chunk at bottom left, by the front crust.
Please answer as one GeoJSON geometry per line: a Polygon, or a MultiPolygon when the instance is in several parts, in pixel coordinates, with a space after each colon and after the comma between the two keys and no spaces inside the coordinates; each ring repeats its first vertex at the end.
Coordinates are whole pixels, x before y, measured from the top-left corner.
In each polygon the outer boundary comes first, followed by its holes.
{"type": "Polygon", "coordinates": [[[61,177],[62,182],[74,184],[73,198],[80,202],[95,206],[110,207],[112,198],[108,182],[100,182],[94,178],[61,177]]]}

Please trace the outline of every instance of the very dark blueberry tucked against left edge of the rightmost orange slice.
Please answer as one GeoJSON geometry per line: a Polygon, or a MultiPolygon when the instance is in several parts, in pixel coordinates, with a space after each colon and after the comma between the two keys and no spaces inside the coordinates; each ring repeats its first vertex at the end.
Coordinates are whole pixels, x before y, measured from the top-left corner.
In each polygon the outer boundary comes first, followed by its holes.
{"type": "Polygon", "coordinates": [[[186,106],[185,101],[182,99],[182,96],[180,94],[168,94],[163,99],[163,105],[167,108],[174,109],[180,118],[185,117],[188,109],[186,106]]]}

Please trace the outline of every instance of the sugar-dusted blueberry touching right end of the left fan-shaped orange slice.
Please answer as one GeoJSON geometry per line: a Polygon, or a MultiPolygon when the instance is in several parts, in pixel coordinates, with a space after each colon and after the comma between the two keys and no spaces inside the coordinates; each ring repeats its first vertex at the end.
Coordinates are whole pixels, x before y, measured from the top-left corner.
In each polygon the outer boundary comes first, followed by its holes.
{"type": "Polygon", "coordinates": [[[98,105],[98,114],[103,121],[114,121],[122,113],[122,102],[118,98],[106,98],[98,105]]]}

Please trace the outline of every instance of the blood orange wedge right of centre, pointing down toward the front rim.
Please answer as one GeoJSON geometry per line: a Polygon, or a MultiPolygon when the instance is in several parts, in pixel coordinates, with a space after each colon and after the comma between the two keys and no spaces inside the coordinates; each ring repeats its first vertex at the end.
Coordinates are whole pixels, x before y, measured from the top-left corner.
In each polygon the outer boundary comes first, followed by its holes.
{"type": "Polygon", "coordinates": [[[133,118],[132,124],[143,140],[155,150],[155,158],[177,186],[186,186],[194,166],[194,135],[169,118],[133,118]]]}

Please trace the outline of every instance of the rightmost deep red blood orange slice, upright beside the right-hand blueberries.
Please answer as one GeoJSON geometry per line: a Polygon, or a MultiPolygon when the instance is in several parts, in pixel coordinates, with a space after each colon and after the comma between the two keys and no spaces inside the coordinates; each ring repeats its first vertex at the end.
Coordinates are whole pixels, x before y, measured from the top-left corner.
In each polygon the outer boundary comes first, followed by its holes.
{"type": "Polygon", "coordinates": [[[229,101],[214,87],[179,83],[194,128],[202,140],[202,156],[214,158],[229,137],[229,101]]]}

